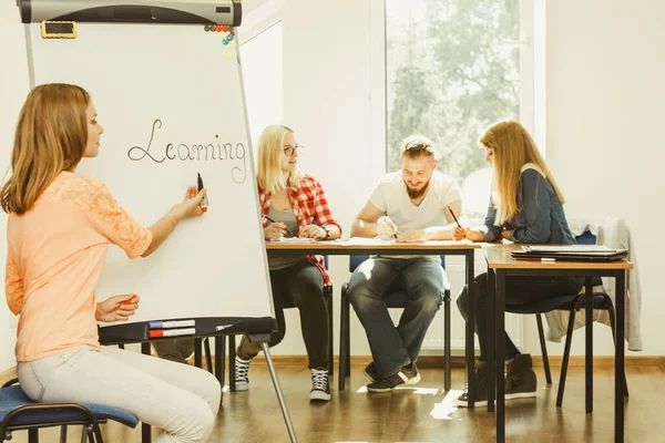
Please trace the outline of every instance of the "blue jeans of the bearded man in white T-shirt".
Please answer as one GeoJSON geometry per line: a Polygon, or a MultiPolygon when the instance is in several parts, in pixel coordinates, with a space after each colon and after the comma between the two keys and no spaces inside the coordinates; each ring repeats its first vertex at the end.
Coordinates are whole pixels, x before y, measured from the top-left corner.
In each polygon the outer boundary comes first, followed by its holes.
{"type": "Polygon", "coordinates": [[[444,281],[439,257],[374,257],[354,271],[349,301],[367,333],[379,377],[390,377],[418,359],[424,334],[441,306],[444,281]],[[397,328],[385,300],[393,291],[407,296],[397,328]]]}

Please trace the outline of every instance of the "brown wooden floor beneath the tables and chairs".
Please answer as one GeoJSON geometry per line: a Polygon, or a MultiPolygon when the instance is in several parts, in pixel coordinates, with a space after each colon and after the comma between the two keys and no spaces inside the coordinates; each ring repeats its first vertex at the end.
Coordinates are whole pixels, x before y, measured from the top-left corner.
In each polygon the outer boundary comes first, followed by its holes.
{"type": "MultiPolygon", "coordinates": [[[[279,405],[263,361],[249,372],[248,392],[225,392],[223,406],[211,442],[288,442],[279,405]]],[[[422,369],[422,381],[412,388],[387,394],[368,394],[362,365],[352,367],[347,390],[338,392],[332,379],[332,400],[310,404],[309,370],[278,363],[278,375],[300,442],[491,442],[494,415],[481,408],[456,409],[452,399],[459,391],[442,392],[443,371],[422,369]],[[349,381],[350,380],[350,381],[349,381]]],[[[559,373],[557,369],[553,369],[559,373]]],[[[563,409],[555,406],[555,383],[546,387],[542,369],[536,369],[539,389],[535,400],[507,403],[509,442],[612,442],[613,375],[598,369],[594,375],[594,413],[584,413],[584,370],[571,368],[563,409]]],[[[626,442],[665,442],[665,368],[628,367],[632,396],[626,400],[626,442]]],[[[453,387],[463,385],[463,372],[456,369],[453,387]]],[[[103,426],[106,442],[140,442],[140,430],[117,424],[103,426]]],[[[156,431],[155,434],[156,435],[156,431]]],[[[42,442],[58,441],[57,430],[44,430],[42,442]]],[[[17,433],[12,443],[25,442],[17,433]]],[[[68,442],[79,442],[80,431],[72,429],[68,442]]]]}

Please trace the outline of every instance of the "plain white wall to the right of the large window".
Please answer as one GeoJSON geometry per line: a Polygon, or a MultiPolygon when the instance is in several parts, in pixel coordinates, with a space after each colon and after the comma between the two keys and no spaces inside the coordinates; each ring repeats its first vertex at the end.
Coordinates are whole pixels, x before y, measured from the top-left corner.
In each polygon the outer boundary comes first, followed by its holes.
{"type": "MultiPolygon", "coordinates": [[[[665,299],[659,184],[665,61],[665,2],[546,2],[546,153],[566,213],[625,218],[634,237],[643,289],[642,333],[647,356],[665,354],[665,299]]],[[[535,331],[535,322],[524,327],[535,331]]],[[[595,353],[612,354],[610,331],[595,328],[595,353]]],[[[535,332],[526,348],[538,353],[535,332]]],[[[573,351],[583,353],[583,333],[573,351]]],[[[560,354],[563,347],[552,347],[560,354]]],[[[632,353],[628,353],[631,356],[632,353]]]]}

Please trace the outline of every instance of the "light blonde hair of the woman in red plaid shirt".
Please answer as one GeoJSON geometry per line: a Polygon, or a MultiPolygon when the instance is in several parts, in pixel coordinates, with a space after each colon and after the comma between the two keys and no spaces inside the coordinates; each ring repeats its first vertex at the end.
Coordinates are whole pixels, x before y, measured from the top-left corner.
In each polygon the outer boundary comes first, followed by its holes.
{"type": "Polygon", "coordinates": [[[286,189],[288,186],[299,187],[303,174],[298,171],[284,174],[280,158],[284,150],[284,137],[294,130],[286,126],[267,126],[258,138],[256,178],[258,187],[269,193],[286,189]]]}

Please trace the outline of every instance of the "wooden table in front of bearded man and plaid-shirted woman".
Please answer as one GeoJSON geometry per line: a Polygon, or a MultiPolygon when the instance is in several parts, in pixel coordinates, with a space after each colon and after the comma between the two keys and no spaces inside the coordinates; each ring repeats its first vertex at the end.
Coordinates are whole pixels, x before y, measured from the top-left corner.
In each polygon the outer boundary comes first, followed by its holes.
{"type": "MultiPolygon", "coordinates": [[[[467,365],[467,380],[469,383],[469,408],[473,408],[475,398],[475,387],[473,385],[473,357],[474,357],[474,319],[475,319],[475,303],[473,289],[473,258],[474,250],[480,249],[480,244],[464,244],[453,241],[423,241],[412,244],[364,244],[364,245],[344,245],[340,241],[313,241],[313,243],[279,243],[268,241],[266,243],[266,250],[268,256],[276,255],[341,255],[341,256],[354,256],[354,255],[380,255],[380,256],[396,256],[396,255],[436,255],[436,256],[464,256],[466,261],[466,274],[467,274],[467,288],[469,292],[469,312],[467,315],[467,333],[466,333],[466,365],[467,365]]],[[[339,374],[341,377],[341,374],[339,374]]]]}

